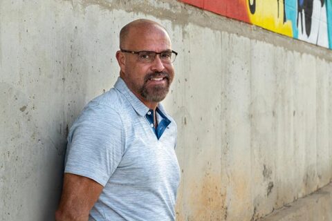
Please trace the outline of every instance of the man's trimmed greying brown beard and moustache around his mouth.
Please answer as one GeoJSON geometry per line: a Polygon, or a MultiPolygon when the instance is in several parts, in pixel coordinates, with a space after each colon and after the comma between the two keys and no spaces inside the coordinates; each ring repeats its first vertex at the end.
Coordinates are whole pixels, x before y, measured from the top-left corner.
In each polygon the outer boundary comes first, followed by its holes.
{"type": "Polygon", "coordinates": [[[171,83],[172,79],[170,79],[169,73],[165,71],[149,73],[144,78],[144,84],[138,88],[138,93],[148,102],[161,102],[165,99],[171,83]],[[163,77],[166,80],[166,85],[147,86],[149,79],[158,77],[163,77]]]}

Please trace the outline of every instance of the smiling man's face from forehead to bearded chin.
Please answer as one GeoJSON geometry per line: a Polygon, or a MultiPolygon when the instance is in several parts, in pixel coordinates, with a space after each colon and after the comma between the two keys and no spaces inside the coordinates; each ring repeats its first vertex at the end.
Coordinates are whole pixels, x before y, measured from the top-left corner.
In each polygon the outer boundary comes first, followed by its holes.
{"type": "MultiPolygon", "coordinates": [[[[122,49],[132,51],[164,52],[172,50],[167,33],[158,28],[133,30],[129,32],[127,44],[122,49]],[[124,48],[126,47],[126,48],[124,48]]],[[[142,62],[138,55],[125,53],[122,79],[131,91],[143,102],[160,102],[174,79],[173,64],[165,64],[156,55],[151,63],[142,62]]]]}

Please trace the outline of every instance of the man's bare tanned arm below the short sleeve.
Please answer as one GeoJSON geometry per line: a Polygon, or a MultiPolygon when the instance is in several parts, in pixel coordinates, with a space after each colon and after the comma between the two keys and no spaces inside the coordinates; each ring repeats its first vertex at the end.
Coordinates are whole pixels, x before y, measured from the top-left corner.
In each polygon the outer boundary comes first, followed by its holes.
{"type": "Polygon", "coordinates": [[[88,220],[89,211],[98,200],[102,189],[101,184],[88,177],[64,173],[64,187],[55,220],[88,220]]]}

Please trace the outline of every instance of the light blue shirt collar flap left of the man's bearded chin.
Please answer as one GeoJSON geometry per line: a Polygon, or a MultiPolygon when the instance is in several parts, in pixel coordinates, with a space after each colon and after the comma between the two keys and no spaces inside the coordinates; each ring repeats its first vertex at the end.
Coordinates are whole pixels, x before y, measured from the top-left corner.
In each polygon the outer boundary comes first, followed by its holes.
{"type": "MultiPolygon", "coordinates": [[[[138,113],[140,116],[145,116],[149,111],[149,108],[143,104],[136,95],[134,95],[131,90],[127,87],[127,84],[124,83],[121,77],[118,77],[116,84],[114,84],[114,88],[118,89],[124,97],[129,101],[133,109],[138,113]]],[[[159,104],[160,105],[160,104],[159,104]]],[[[159,106],[158,105],[158,106],[159,106]]]]}

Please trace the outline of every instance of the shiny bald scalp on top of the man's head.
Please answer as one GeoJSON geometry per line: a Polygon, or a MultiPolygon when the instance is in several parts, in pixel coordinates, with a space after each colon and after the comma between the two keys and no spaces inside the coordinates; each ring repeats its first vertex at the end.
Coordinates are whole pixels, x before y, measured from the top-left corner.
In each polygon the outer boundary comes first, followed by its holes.
{"type": "Polygon", "coordinates": [[[160,30],[160,32],[165,32],[165,35],[169,36],[167,30],[156,21],[137,19],[127,23],[127,25],[120,30],[120,48],[126,48],[131,38],[137,35],[144,35],[152,30],[160,30]]]}

